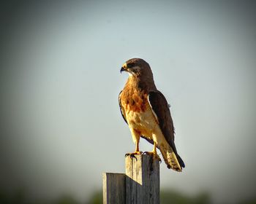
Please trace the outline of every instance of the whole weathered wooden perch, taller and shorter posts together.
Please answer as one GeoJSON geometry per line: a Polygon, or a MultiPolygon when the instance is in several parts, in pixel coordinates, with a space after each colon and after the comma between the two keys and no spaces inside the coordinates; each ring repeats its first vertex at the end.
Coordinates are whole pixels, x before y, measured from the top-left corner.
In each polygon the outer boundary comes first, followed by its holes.
{"type": "Polygon", "coordinates": [[[159,204],[159,161],[142,154],[125,162],[125,174],[103,173],[103,203],[159,204]]]}

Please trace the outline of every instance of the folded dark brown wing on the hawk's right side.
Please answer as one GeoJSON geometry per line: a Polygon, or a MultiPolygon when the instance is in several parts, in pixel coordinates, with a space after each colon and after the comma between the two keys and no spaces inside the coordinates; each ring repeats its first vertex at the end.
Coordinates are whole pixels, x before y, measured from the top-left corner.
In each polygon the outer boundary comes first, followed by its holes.
{"type": "Polygon", "coordinates": [[[171,146],[173,152],[177,154],[176,146],[174,144],[173,119],[170,116],[170,109],[165,96],[159,92],[159,90],[152,90],[148,93],[148,102],[154,116],[157,117],[159,127],[162,130],[162,134],[165,136],[167,143],[171,146]]]}

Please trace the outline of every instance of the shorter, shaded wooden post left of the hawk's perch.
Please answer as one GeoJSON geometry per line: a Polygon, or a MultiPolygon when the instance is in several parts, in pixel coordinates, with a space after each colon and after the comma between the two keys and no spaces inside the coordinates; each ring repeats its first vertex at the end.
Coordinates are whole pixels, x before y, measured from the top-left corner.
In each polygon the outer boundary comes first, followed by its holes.
{"type": "Polygon", "coordinates": [[[103,204],[125,203],[125,174],[103,173],[103,204]]]}

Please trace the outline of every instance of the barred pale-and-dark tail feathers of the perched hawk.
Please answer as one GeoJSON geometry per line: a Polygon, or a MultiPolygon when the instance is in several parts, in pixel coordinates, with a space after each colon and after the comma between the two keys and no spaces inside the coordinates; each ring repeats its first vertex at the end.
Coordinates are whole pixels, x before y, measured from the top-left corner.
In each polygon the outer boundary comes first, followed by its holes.
{"type": "Polygon", "coordinates": [[[185,167],[183,160],[181,160],[181,157],[178,154],[175,154],[170,146],[168,146],[167,148],[165,146],[160,146],[159,149],[162,153],[162,157],[165,160],[167,168],[171,168],[173,170],[181,172],[182,168],[185,167]]]}

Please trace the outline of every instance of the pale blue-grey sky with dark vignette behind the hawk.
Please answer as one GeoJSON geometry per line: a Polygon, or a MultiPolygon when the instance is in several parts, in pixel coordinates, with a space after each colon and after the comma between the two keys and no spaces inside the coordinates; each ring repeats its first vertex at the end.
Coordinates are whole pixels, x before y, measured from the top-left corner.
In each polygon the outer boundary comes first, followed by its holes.
{"type": "Polygon", "coordinates": [[[214,203],[255,196],[255,1],[45,2],[1,7],[1,189],[86,200],[102,172],[124,172],[135,145],[120,68],[138,57],[171,105],[186,163],[176,173],[162,162],[161,188],[214,203]]]}

